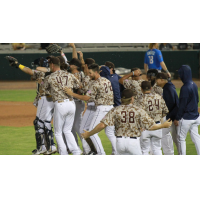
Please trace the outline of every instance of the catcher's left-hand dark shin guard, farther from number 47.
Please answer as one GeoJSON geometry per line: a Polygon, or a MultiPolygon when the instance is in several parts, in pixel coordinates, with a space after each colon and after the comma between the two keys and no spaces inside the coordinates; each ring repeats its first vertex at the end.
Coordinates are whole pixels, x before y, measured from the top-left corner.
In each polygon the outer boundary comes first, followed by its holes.
{"type": "Polygon", "coordinates": [[[44,140],[44,122],[41,121],[38,117],[33,121],[35,127],[35,139],[36,139],[36,148],[38,150],[42,149],[43,140],[44,140]]]}

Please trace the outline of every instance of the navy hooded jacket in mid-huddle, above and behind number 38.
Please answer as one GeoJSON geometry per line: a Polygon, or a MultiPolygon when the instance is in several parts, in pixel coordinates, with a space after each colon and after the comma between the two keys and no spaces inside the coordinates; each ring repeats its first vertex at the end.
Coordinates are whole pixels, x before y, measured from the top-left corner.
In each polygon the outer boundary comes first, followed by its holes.
{"type": "Polygon", "coordinates": [[[110,69],[107,66],[102,66],[100,71],[101,77],[107,78],[111,82],[114,94],[114,107],[121,105],[121,93],[124,89],[119,83],[121,77],[118,74],[110,74],[110,69]]]}

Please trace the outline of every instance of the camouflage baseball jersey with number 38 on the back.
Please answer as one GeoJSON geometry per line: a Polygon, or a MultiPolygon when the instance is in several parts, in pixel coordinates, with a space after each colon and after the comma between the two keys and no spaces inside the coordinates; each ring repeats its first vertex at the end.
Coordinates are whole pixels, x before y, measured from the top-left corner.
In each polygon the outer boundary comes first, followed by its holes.
{"type": "Polygon", "coordinates": [[[144,129],[148,130],[155,125],[144,110],[133,104],[113,108],[101,122],[107,126],[115,126],[115,135],[125,137],[140,137],[144,129]]]}

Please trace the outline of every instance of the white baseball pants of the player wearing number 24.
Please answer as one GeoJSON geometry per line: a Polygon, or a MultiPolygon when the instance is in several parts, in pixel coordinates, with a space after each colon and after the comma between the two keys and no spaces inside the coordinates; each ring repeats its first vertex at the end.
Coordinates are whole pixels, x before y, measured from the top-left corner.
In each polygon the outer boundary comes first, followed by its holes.
{"type": "Polygon", "coordinates": [[[155,131],[143,131],[140,137],[140,145],[143,155],[149,155],[151,147],[153,155],[162,155],[161,151],[162,129],[155,131]]]}

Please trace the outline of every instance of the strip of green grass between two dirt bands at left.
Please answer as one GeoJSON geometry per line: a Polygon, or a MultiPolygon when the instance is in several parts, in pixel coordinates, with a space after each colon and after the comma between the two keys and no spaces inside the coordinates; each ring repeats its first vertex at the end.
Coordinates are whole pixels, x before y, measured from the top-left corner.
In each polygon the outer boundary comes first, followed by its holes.
{"type": "Polygon", "coordinates": [[[36,90],[0,90],[0,101],[33,102],[36,90]]]}

